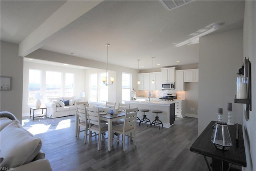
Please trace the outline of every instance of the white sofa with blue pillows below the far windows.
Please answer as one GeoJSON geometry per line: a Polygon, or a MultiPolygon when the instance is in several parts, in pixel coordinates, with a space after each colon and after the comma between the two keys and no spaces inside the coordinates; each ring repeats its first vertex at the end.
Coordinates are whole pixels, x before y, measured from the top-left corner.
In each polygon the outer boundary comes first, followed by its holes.
{"type": "Polygon", "coordinates": [[[78,101],[79,99],[76,99],[75,96],[48,98],[48,103],[45,103],[45,106],[47,107],[46,115],[50,118],[75,115],[76,102],[78,101]],[[68,105],[65,105],[64,103],[60,102],[60,100],[68,101],[68,105]]]}

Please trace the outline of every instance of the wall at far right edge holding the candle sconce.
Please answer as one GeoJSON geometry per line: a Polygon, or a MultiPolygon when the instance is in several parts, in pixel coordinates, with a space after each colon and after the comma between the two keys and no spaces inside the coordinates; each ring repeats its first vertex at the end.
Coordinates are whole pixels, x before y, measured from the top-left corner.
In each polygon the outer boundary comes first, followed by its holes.
{"type": "Polygon", "coordinates": [[[245,2],[244,56],[249,57],[252,62],[252,111],[250,111],[250,120],[248,121],[243,115],[247,162],[247,167],[243,170],[256,171],[256,1],[245,2]]]}

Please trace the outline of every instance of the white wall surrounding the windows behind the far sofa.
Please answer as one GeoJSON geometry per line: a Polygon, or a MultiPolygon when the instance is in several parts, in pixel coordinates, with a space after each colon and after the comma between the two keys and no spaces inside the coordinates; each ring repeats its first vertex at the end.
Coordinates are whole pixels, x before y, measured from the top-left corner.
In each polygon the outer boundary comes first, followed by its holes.
{"type": "MultiPolygon", "coordinates": [[[[73,73],[74,74],[74,95],[76,98],[79,98],[79,93],[84,91],[88,95],[88,91],[85,89],[85,82],[87,80],[85,76],[86,70],[82,69],[75,69],[75,68],[69,68],[69,67],[61,67],[61,66],[53,66],[53,65],[47,65],[47,64],[38,64],[34,62],[24,62],[24,68],[23,68],[23,100],[22,100],[22,116],[29,115],[30,107],[34,105],[28,105],[28,73],[30,69],[36,69],[42,71],[42,80],[45,80],[45,73],[46,71],[57,71],[61,72],[62,76],[65,76],[65,73],[73,73]]],[[[44,83],[44,81],[43,81],[44,83]]],[[[43,86],[44,87],[44,86],[43,86]]],[[[42,105],[44,105],[45,102],[47,102],[46,99],[46,89],[42,89],[41,93],[43,95],[43,98],[41,100],[42,105]]],[[[40,110],[36,110],[35,112],[42,112],[40,110]]]]}

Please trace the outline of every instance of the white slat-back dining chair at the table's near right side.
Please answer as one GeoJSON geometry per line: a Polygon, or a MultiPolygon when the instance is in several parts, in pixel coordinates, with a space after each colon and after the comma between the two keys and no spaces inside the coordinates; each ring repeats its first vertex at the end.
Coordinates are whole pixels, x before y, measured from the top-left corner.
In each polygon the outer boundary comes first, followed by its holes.
{"type": "Polygon", "coordinates": [[[122,134],[122,141],[120,141],[119,136],[117,138],[113,137],[113,140],[123,143],[123,150],[125,151],[125,136],[133,138],[134,146],[136,146],[136,118],[138,113],[138,107],[133,109],[125,110],[124,123],[112,127],[113,133],[122,134]]]}

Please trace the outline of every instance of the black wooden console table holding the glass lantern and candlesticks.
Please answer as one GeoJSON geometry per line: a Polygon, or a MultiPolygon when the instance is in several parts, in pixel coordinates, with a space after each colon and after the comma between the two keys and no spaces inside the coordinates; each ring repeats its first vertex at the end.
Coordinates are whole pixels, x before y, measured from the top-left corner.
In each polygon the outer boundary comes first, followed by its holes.
{"type": "Polygon", "coordinates": [[[211,121],[204,129],[196,141],[191,145],[190,151],[204,155],[204,159],[211,171],[206,156],[212,157],[212,171],[226,171],[229,169],[229,163],[246,167],[246,156],[244,149],[244,138],[242,125],[238,125],[238,134],[236,134],[236,125],[228,125],[232,147],[228,150],[220,150],[215,147],[211,141],[212,126],[217,121],[211,121]],[[236,140],[238,137],[238,140],[236,140]]]}

